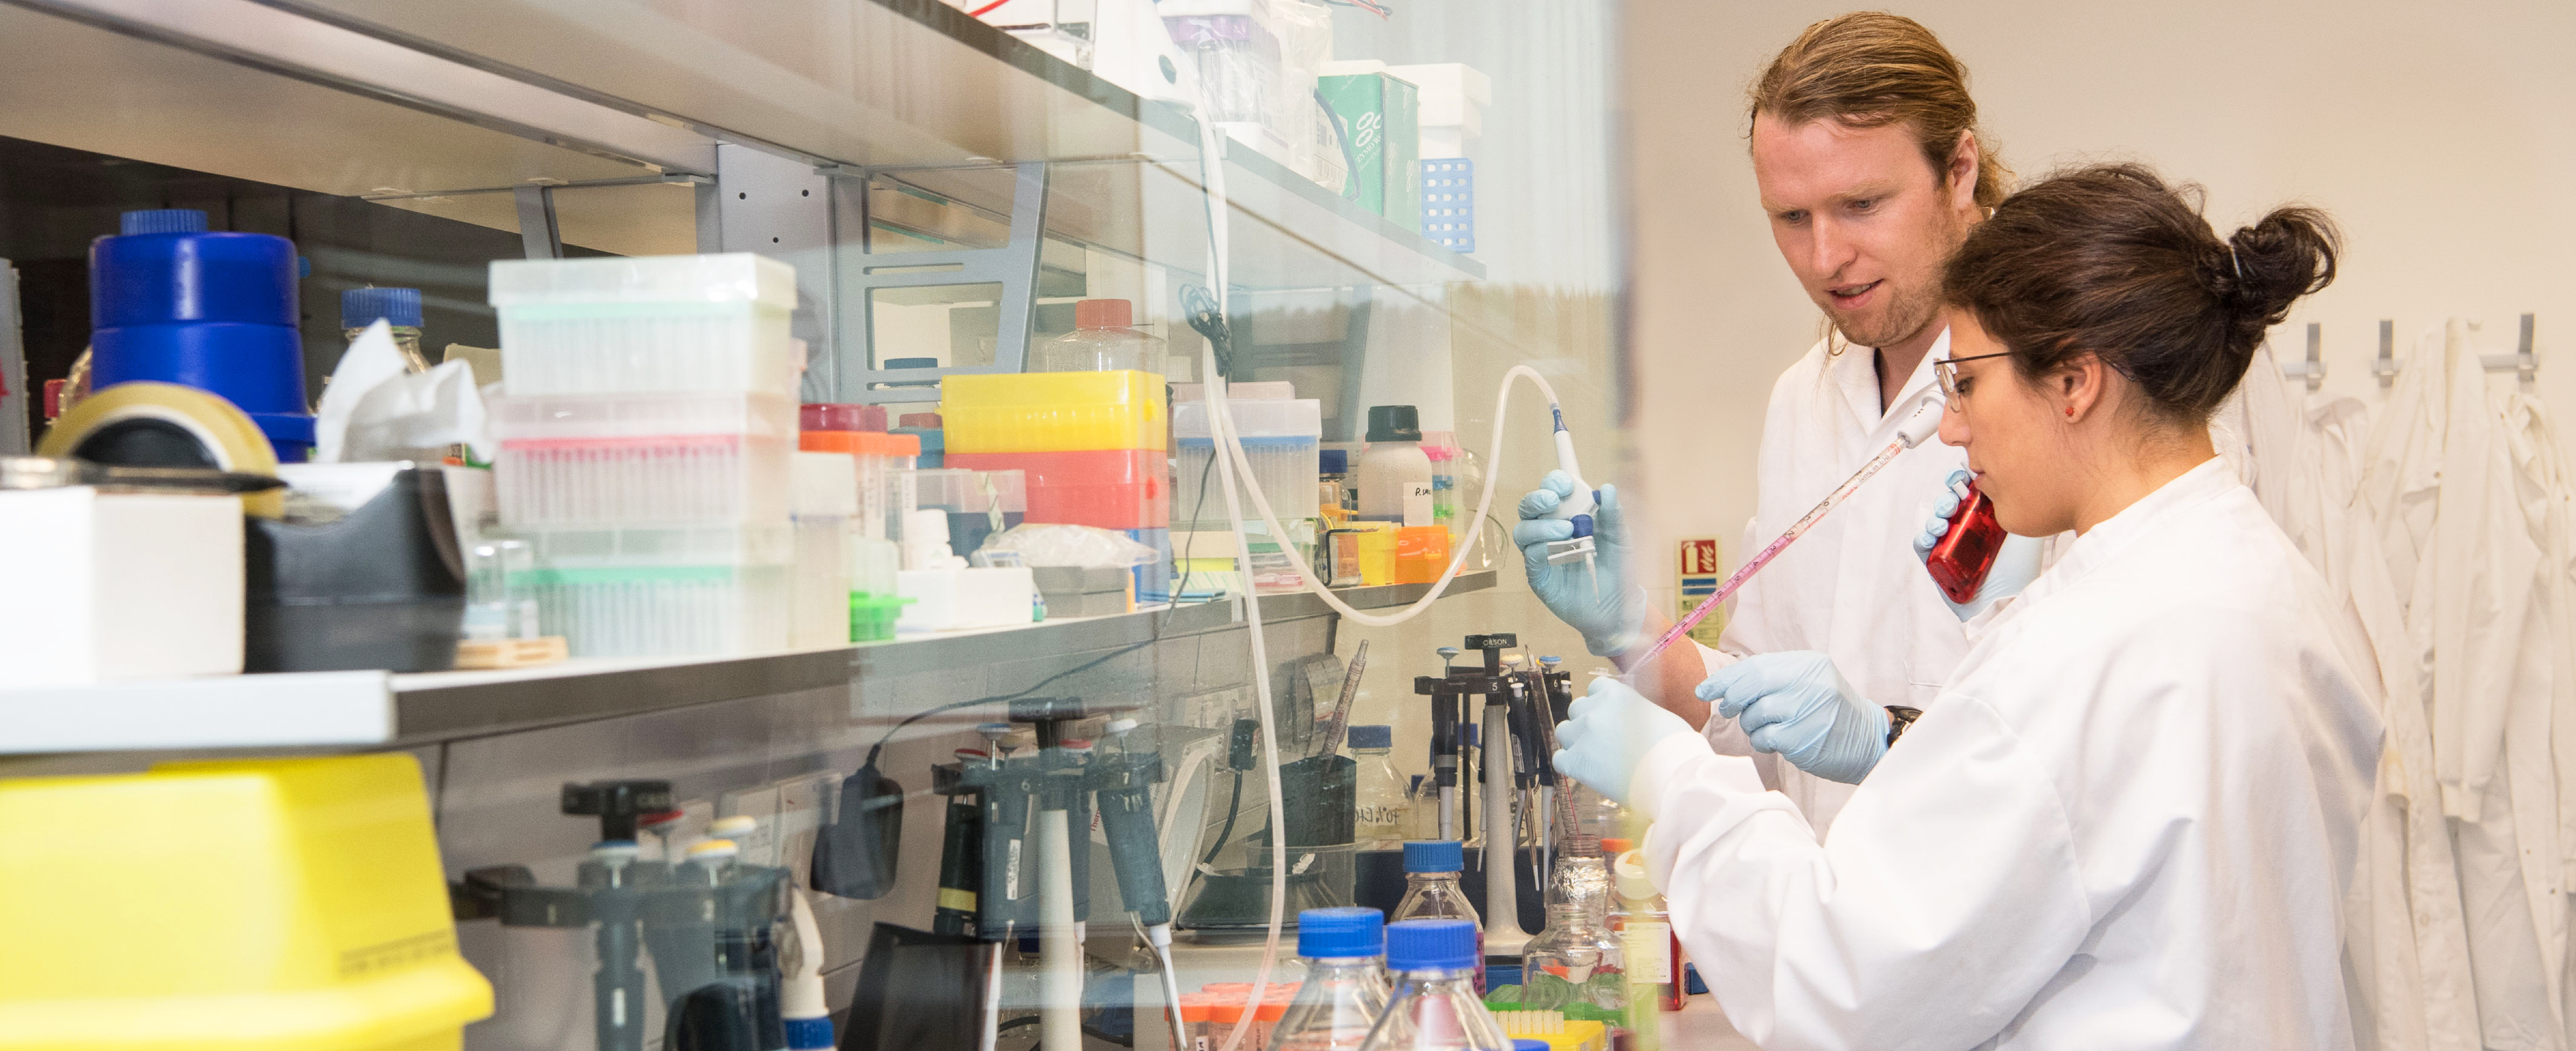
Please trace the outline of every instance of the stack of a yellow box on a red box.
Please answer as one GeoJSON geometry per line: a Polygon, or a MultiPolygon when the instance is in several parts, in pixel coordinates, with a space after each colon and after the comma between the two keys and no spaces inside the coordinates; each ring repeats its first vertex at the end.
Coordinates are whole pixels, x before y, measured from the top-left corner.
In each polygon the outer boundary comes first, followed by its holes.
{"type": "Polygon", "coordinates": [[[1136,567],[1136,600],[1170,600],[1172,482],[1162,376],[948,376],[940,420],[948,430],[945,466],[1020,471],[1030,523],[1113,528],[1151,546],[1159,559],[1136,567]]]}

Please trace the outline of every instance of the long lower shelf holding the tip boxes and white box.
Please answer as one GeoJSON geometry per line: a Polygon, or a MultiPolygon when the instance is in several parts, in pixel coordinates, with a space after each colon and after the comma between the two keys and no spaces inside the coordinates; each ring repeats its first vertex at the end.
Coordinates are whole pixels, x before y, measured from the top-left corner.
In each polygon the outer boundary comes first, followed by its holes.
{"type": "MultiPolygon", "coordinates": [[[[1461,572],[1448,595],[1494,587],[1494,569],[1461,572]]],[[[1419,600],[1430,585],[1350,587],[1352,608],[1419,600]]],[[[1329,616],[1321,598],[1262,595],[1265,621],[1329,616]]],[[[304,672],[0,690],[0,755],[412,747],[590,719],[796,690],[845,688],[873,667],[966,667],[994,647],[1015,657],[1226,631],[1231,600],[1118,616],[953,631],[925,639],[757,657],[572,659],[505,672],[304,672]]]]}

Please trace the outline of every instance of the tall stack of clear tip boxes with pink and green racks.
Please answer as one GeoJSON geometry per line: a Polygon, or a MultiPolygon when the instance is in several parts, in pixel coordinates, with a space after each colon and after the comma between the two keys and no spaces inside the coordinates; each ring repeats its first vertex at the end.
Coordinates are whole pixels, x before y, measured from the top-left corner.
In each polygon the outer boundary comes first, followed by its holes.
{"type": "Polygon", "coordinates": [[[750,252],[497,260],[513,580],[574,657],[788,644],[796,273],[750,252]]]}

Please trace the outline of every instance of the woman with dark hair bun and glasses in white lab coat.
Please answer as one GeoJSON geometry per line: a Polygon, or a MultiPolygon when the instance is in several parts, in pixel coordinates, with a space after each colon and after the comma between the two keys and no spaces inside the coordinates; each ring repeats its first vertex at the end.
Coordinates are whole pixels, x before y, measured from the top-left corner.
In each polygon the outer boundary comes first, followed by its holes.
{"type": "Polygon", "coordinates": [[[1654,817],[1649,873],[1754,1043],[2352,1046],[2339,904],[2378,675],[2208,435],[2336,247],[2313,209],[2221,240],[2195,188],[2133,165],[2040,180],[1968,234],[1942,440],[2007,531],[2074,541],[1971,621],[1901,747],[1821,654],[1703,683],[1757,742],[1829,726],[1806,744],[1862,757],[1824,845],[1680,716],[1615,680],[1577,701],[1558,770],[1654,817]]]}

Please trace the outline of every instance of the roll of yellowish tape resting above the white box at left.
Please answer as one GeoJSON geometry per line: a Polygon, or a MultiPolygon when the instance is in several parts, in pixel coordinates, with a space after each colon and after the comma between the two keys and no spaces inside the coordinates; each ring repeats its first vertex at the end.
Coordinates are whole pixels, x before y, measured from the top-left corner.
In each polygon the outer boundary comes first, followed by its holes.
{"type": "MultiPolygon", "coordinates": [[[[116,466],[214,466],[278,474],[260,425],[222,397],[178,384],[116,384],[80,399],[44,433],[36,456],[80,456],[116,466]]],[[[242,513],[281,518],[283,489],[242,497],[242,513]]]]}

